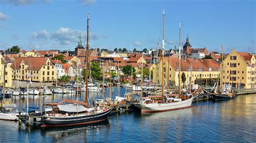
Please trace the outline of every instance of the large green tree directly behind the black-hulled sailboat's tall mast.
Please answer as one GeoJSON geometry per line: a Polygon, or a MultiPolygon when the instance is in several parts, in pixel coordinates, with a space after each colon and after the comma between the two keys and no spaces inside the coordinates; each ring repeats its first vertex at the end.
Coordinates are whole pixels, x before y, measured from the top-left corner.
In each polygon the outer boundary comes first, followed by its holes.
{"type": "MultiPolygon", "coordinates": [[[[102,77],[102,70],[100,69],[98,62],[92,61],[90,63],[90,66],[91,66],[91,68],[89,68],[88,77],[91,76],[91,78],[95,78],[96,80],[98,80],[100,77],[102,77]],[[90,69],[91,69],[91,75],[90,75],[90,69]]],[[[86,76],[86,69],[82,70],[82,75],[84,77],[86,76]]]]}

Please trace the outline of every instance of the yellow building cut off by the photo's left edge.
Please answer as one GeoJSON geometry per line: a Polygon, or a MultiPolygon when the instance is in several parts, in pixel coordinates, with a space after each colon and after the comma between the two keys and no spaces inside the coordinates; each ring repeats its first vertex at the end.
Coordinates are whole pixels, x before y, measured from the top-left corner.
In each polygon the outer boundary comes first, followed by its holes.
{"type": "Polygon", "coordinates": [[[12,87],[12,69],[8,65],[8,63],[5,61],[5,74],[4,74],[4,58],[2,55],[0,55],[1,63],[0,63],[0,84],[1,87],[3,87],[4,84],[4,76],[5,76],[5,87],[11,88],[12,87]]]}

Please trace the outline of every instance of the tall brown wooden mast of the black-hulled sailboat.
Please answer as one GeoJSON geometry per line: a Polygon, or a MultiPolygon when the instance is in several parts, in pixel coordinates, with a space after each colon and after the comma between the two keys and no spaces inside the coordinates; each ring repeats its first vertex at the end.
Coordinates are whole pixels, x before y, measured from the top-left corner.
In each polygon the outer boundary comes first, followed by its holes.
{"type": "Polygon", "coordinates": [[[86,80],[85,80],[85,102],[88,104],[88,67],[89,67],[89,12],[87,15],[87,39],[86,39],[86,80]]]}

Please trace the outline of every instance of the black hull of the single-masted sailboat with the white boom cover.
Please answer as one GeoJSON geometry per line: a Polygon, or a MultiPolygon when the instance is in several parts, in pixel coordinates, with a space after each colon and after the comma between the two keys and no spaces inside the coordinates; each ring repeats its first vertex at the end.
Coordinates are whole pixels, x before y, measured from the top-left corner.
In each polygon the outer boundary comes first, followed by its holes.
{"type": "Polygon", "coordinates": [[[93,115],[70,116],[70,117],[47,117],[41,119],[41,127],[73,126],[82,124],[98,123],[107,119],[112,109],[93,115]]]}

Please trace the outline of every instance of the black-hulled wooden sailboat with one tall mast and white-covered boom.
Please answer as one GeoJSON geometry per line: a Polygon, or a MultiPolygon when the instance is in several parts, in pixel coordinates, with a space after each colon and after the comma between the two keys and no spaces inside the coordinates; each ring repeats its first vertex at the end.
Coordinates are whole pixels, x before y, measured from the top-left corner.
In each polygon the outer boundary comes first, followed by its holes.
{"type": "MultiPolygon", "coordinates": [[[[86,43],[86,81],[89,69],[89,14],[87,15],[87,43],[86,43]]],[[[46,104],[57,106],[51,112],[45,112],[41,119],[41,127],[72,126],[98,123],[107,119],[111,108],[106,106],[88,105],[88,82],[86,82],[85,102],[64,99],[62,102],[46,104]],[[63,104],[71,103],[71,104],[63,104]]]]}

